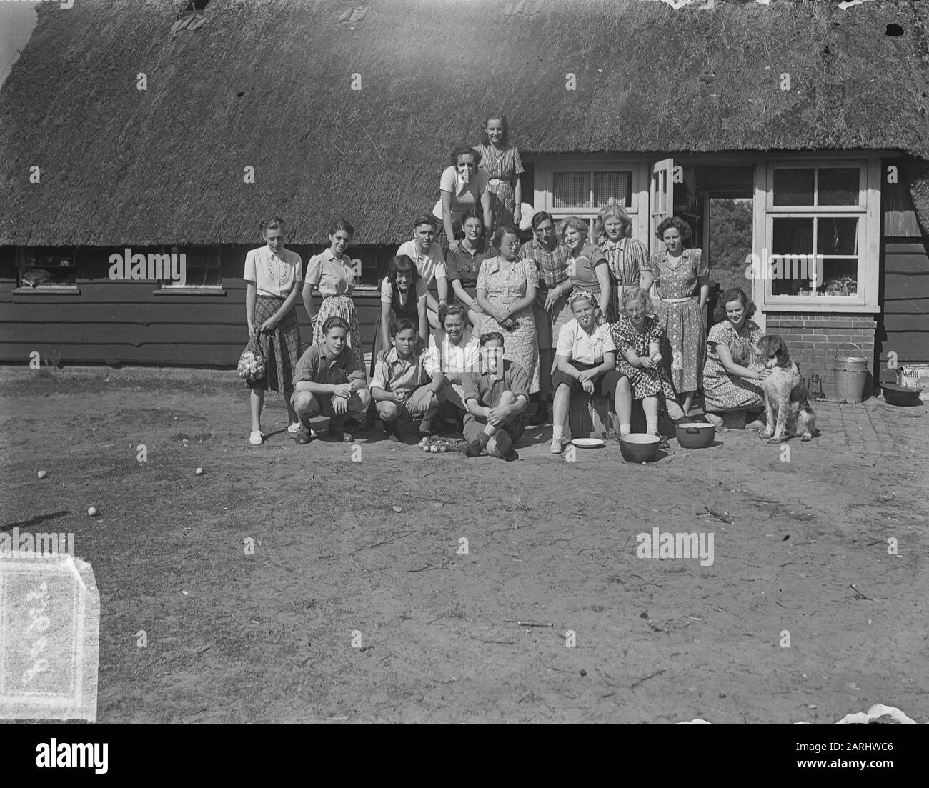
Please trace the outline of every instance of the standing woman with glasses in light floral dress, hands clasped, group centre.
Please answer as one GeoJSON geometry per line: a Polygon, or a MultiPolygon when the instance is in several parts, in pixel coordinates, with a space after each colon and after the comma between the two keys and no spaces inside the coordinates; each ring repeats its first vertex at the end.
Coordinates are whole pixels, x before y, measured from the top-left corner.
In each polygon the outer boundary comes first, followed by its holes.
{"type": "Polygon", "coordinates": [[[480,333],[504,335],[504,359],[526,370],[530,394],[539,390],[539,343],[532,305],[539,275],[532,260],[519,256],[519,230],[505,225],[493,233],[499,250],[480,264],[478,306],[484,311],[480,333]]]}

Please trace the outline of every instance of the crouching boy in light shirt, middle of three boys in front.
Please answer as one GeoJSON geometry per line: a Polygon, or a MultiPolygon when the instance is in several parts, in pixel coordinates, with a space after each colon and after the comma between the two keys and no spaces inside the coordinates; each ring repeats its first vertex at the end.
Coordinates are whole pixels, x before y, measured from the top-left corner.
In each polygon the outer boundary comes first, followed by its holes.
{"type": "Polygon", "coordinates": [[[387,437],[403,440],[399,423],[409,424],[414,415],[422,414],[421,436],[432,434],[432,417],[438,413],[443,379],[433,378],[425,371],[425,353],[417,348],[416,327],[411,320],[401,318],[390,324],[391,349],[378,359],[371,379],[371,396],[377,402],[377,414],[384,422],[387,437]]]}

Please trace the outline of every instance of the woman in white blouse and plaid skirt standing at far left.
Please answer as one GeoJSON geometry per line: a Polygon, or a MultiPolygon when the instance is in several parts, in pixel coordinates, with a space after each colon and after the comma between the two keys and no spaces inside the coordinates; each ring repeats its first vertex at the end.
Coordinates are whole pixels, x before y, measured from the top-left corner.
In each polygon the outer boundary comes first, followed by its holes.
{"type": "Polygon", "coordinates": [[[290,418],[287,431],[296,432],[300,428],[291,394],[294,367],[300,357],[300,327],[294,304],[303,283],[303,262],[295,252],[284,249],[283,224],[281,217],[261,222],[261,235],[266,245],[249,250],[242,277],[248,284],[245,292],[248,335],[257,339],[266,365],[265,376],[248,383],[252,389],[252,434],[248,442],[253,446],[260,446],[265,440],[261,431],[261,409],[265,404],[266,388],[284,395],[290,418]]]}

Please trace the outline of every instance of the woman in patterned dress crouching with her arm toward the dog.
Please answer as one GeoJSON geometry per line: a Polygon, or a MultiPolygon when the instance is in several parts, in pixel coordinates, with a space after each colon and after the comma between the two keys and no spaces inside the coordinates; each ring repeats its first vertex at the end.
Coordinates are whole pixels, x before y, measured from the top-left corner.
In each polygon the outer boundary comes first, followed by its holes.
{"type": "Polygon", "coordinates": [[[769,373],[754,352],[765,334],[752,320],[755,305],[735,287],[719,299],[713,317],[718,321],[706,338],[706,364],[703,367],[703,401],[707,416],[718,426],[719,414],[746,411],[746,428],[761,427],[759,416],[765,407],[760,381],[769,373]]]}

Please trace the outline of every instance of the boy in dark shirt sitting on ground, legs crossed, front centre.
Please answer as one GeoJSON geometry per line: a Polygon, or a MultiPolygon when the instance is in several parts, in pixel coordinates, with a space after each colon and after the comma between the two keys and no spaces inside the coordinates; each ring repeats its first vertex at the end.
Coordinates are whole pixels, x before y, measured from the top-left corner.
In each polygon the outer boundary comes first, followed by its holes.
{"type": "Polygon", "coordinates": [[[522,413],[529,401],[529,377],[515,361],[504,360],[504,336],[491,332],[480,337],[480,369],[462,375],[464,404],[464,455],[477,457],[485,450],[494,457],[519,459],[513,444],[522,438],[522,413]]]}

